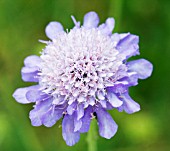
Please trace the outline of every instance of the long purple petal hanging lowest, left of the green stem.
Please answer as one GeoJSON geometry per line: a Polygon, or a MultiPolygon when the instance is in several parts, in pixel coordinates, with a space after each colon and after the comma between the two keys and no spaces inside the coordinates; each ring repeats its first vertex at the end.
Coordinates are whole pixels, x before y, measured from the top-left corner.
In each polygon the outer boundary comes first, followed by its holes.
{"type": "Polygon", "coordinates": [[[62,122],[62,135],[66,144],[73,146],[80,139],[80,133],[74,132],[74,117],[72,115],[65,115],[62,122]]]}

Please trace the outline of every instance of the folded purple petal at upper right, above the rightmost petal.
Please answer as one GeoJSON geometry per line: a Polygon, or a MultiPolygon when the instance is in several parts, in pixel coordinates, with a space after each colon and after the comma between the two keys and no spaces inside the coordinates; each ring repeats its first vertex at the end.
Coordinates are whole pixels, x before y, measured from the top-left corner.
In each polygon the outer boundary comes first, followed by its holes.
{"type": "Polygon", "coordinates": [[[132,35],[130,33],[127,34],[119,34],[120,41],[117,43],[116,48],[120,53],[123,53],[128,59],[131,56],[135,56],[139,54],[139,37],[136,35],[132,35]]]}

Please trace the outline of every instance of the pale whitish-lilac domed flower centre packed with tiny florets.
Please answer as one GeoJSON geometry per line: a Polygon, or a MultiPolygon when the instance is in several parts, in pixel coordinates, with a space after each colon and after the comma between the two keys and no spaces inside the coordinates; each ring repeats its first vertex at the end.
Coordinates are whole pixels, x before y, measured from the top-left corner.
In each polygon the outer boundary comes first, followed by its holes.
{"type": "Polygon", "coordinates": [[[41,55],[40,85],[45,93],[84,102],[105,99],[105,88],[122,78],[124,57],[98,29],[73,29],[49,42],[41,55]]]}

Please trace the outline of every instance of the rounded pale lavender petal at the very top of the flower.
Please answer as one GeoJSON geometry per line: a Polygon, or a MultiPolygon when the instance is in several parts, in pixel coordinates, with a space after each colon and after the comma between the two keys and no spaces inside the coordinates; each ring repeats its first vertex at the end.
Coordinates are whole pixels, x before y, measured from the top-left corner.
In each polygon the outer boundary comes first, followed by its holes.
{"type": "Polygon", "coordinates": [[[83,26],[85,28],[95,28],[99,24],[99,17],[95,12],[89,12],[85,14],[83,26]]]}

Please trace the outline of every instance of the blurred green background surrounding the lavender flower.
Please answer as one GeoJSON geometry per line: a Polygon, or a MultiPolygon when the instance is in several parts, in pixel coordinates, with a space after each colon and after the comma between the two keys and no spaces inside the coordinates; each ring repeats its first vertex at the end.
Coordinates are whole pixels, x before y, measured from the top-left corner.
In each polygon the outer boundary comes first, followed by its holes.
{"type": "Polygon", "coordinates": [[[96,135],[98,151],[170,150],[170,1],[169,0],[0,0],[0,151],[86,151],[87,134],[78,144],[66,146],[61,120],[52,128],[33,127],[29,120],[32,104],[12,98],[18,87],[32,83],[21,80],[26,56],[44,47],[45,26],[59,21],[72,28],[75,15],[82,22],[88,11],[96,11],[101,23],[116,19],[114,32],[140,36],[141,55],[154,65],[152,77],[139,81],[130,93],[142,110],[128,115],[110,111],[119,125],[110,140],[96,135]]]}

